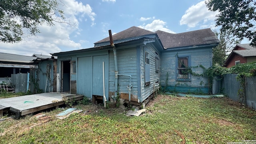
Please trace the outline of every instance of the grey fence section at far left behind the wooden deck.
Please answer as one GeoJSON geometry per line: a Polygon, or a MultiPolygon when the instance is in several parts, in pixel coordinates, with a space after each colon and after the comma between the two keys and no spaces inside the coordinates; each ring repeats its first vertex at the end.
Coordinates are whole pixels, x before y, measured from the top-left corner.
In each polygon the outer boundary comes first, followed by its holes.
{"type": "Polygon", "coordinates": [[[15,88],[15,93],[17,92],[28,92],[29,88],[29,73],[26,74],[12,74],[12,85],[15,88]]]}

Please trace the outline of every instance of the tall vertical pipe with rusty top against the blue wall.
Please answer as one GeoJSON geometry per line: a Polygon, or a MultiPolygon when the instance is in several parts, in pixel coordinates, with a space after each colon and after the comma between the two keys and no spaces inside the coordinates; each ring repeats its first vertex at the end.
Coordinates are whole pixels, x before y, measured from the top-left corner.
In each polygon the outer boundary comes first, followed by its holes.
{"type": "Polygon", "coordinates": [[[115,95],[112,96],[113,100],[116,101],[117,96],[117,90],[118,90],[118,68],[117,68],[117,58],[116,58],[116,46],[114,45],[113,38],[112,38],[112,32],[111,30],[108,30],[109,38],[110,38],[110,45],[113,48],[114,52],[114,63],[115,63],[115,95]]]}

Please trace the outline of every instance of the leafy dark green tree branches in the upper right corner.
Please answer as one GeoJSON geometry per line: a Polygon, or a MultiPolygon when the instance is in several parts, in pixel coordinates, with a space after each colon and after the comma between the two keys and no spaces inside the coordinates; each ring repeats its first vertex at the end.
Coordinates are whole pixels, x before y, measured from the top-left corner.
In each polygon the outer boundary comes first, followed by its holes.
{"type": "Polygon", "coordinates": [[[219,11],[216,26],[229,38],[248,38],[256,46],[256,2],[254,0],[207,0],[211,11],[219,11]]]}

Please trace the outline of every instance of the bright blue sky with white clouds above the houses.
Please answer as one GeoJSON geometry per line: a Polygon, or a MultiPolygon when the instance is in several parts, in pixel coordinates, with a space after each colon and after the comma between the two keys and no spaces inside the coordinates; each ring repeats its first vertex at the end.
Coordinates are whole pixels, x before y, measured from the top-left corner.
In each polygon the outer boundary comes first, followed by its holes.
{"type": "MultiPolygon", "coordinates": [[[[62,0],[66,23],[40,25],[36,36],[18,43],[0,42],[0,52],[32,56],[92,48],[94,43],[132,26],[155,32],[218,30],[203,0],[62,0]]],[[[26,31],[25,31],[26,33],[26,31]]],[[[248,43],[248,42],[247,42],[248,43]]]]}

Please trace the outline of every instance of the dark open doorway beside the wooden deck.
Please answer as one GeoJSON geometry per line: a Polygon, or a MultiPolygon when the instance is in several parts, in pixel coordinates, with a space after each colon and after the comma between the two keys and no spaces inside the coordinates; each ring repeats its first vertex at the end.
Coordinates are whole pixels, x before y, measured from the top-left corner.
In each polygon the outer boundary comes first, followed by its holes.
{"type": "Polygon", "coordinates": [[[62,61],[62,92],[70,93],[70,60],[62,61]]]}

